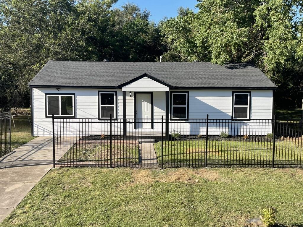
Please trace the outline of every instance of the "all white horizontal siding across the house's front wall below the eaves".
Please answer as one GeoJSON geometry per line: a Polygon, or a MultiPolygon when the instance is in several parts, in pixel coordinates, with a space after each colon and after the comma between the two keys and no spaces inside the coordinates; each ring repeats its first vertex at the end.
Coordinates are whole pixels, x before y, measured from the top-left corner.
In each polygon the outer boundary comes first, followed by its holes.
{"type": "MultiPolygon", "coordinates": [[[[75,93],[76,100],[76,118],[83,119],[97,119],[98,118],[98,90],[101,89],[61,89],[57,91],[53,88],[33,88],[33,126],[34,135],[52,135],[52,118],[45,117],[45,93],[75,93]]],[[[104,89],[110,90],[110,89],[104,89]]],[[[134,118],[134,97],[129,97],[128,90],[126,93],[126,118],[134,118]]],[[[181,90],[176,90],[181,91],[181,90]]],[[[184,90],[185,91],[185,90],[184,90]]],[[[205,119],[207,114],[209,118],[213,119],[230,119],[232,110],[232,91],[233,90],[189,90],[189,118],[203,118],[205,119]]],[[[241,90],[245,91],[245,90],[241,90]]],[[[247,90],[248,91],[248,90],[247,90]]],[[[118,118],[123,118],[123,97],[122,90],[117,90],[117,112],[118,118]]],[[[170,96],[169,96],[170,97],[170,96]]],[[[153,92],[153,111],[154,118],[161,119],[161,116],[165,117],[165,92],[154,91],[153,92]]],[[[169,99],[170,106],[170,99],[169,99]]],[[[170,108],[169,108],[170,111],[170,108]]],[[[271,119],[272,118],[272,90],[251,90],[251,118],[252,119],[271,119]]],[[[81,133],[94,134],[97,132],[109,133],[108,123],[97,123],[96,127],[90,124],[84,124],[84,130],[82,127],[77,130],[81,130],[81,133]],[[86,129],[85,129],[86,127],[86,129]],[[105,132],[106,131],[106,132],[105,132]]],[[[231,127],[229,125],[213,125],[215,127],[209,127],[209,133],[218,134],[221,131],[229,132],[229,134],[267,134],[271,131],[270,125],[261,125],[259,129],[253,124],[247,124],[247,126],[241,126],[236,128],[235,124],[231,127]],[[248,131],[248,133],[246,133],[248,131]]],[[[76,127],[76,124],[75,124],[76,127]]],[[[161,123],[157,120],[154,123],[155,131],[160,132],[161,123]]],[[[165,127],[164,127],[165,128],[165,127]]],[[[127,124],[127,129],[133,130],[133,123],[127,124]]],[[[113,133],[123,133],[123,124],[121,121],[115,122],[113,125],[113,133]]],[[[169,132],[177,131],[181,134],[205,134],[205,124],[193,124],[182,122],[178,123],[172,121],[169,124],[169,132]]],[[[78,131],[77,133],[79,133],[78,131]]],[[[67,132],[66,132],[67,133],[67,132]]],[[[73,132],[72,132],[73,133],[73,132]]]]}

